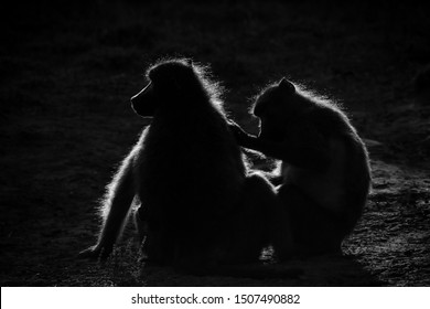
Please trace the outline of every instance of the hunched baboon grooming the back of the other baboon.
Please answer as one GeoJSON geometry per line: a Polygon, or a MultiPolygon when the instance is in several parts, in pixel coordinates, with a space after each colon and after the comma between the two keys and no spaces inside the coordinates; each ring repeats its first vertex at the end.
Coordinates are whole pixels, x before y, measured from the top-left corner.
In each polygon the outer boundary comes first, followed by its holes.
{"type": "MultiPolygon", "coordinates": [[[[290,221],[292,252],[340,252],[369,192],[367,150],[356,130],[333,102],[286,78],[262,90],[254,115],[260,119],[258,137],[236,124],[230,128],[243,147],[282,161],[278,217],[290,221]]],[[[273,246],[281,259],[291,254],[282,235],[273,246]]]]}

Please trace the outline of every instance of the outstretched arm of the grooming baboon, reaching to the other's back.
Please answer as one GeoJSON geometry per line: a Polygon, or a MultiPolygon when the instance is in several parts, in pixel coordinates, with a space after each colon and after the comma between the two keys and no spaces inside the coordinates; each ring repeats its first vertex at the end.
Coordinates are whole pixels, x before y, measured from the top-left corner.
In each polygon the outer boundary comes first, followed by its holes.
{"type": "Polygon", "coordinates": [[[287,141],[265,140],[248,135],[241,146],[286,161],[298,168],[324,171],[330,164],[327,151],[313,147],[312,145],[291,147],[287,141]]]}

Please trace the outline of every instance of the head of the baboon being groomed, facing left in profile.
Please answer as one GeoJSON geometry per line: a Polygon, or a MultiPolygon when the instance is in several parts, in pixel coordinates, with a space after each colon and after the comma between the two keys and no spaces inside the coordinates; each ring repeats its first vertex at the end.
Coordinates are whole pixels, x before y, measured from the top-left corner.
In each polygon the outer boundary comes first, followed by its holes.
{"type": "Polygon", "coordinates": [[[152,117],[159,108],[180,105],[187,94],[200,89],[198,75],[190,60],[162,61],[147,71],[149,83],[131,97],[132,109],[142,117],[152,117]],[[196,87],[197,86],[197,87],[196,87]]]}

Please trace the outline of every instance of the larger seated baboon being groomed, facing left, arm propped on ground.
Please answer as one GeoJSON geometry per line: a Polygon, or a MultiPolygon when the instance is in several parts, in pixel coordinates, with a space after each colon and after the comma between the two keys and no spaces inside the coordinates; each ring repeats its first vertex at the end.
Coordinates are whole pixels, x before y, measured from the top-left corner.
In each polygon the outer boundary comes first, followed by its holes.
{"type": "Polygon", "coordinates": [[[131,106],[151,125],[108,185],[98,242],[82,255],[110,254],[136,199],[149,262],[211,273],[258,260],[277,198],[264,177],[248,172],[221,88],[182,58],[154,64],[147,77],[131,106]]]}

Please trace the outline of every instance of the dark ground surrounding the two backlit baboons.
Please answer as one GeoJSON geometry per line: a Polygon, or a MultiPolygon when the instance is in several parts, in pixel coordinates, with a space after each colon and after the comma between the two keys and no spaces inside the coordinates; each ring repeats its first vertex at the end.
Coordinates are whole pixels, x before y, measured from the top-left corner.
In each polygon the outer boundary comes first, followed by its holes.
{"type": "MultiPolygon", "coordinates": [[[[2,10],[1,286],[430,286],[430,62],[426,10],[384,1],[57,1],[2,10]],[[89,3],[89,4],[88,4],[89,3]],[[127,231],[107,264],[98,199],[142,129],[129,97],[161,56],[211,64],[232,118],[288,76],[338,100],[369,147],[373,191],[342,256],[297,276],[194,277],[141,267],[127,231]]],[[[270,252],[267,253],[270,260],[270,252]]]]}

